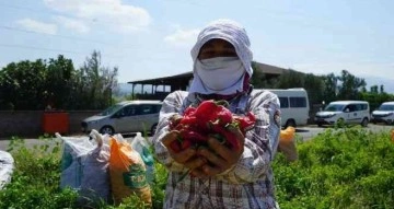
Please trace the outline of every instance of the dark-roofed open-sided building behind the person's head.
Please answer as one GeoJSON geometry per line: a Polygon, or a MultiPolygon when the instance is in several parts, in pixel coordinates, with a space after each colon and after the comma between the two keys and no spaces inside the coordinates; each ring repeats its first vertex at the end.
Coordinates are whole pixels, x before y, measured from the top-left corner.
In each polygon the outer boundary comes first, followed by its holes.
{"type": "MultiPolygon", "coordinates": [[[[256,61],[253,61],[253,66],[255,70],[263,72],[267,79],[279,77],[287,70],[283,68],[260,63],[256,61]]],[[[131,94],[135,95],[137,98],[164,100],[164,97],[170,92],[173,92],[175,90],[186,91],[188,89],[192,79],[193,79],[193,71],[189,71],[170,77],[139,80],[139,81],[129,81],[127,83],[132,85],[131,94]],[[143,93],[136,93],[135,92],[136,85],[141,85],[143,93]],[[150,92],[144,91],[146,88],[148,88],[150,92]]]]}

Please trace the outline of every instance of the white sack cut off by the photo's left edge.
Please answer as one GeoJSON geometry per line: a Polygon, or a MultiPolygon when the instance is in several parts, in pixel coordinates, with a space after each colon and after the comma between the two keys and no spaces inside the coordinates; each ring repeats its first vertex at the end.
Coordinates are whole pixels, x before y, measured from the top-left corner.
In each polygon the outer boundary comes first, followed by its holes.
{"type": "Polygon", "coordinates": [[[11,182],[14,160],[9,152],[0,150],[0,189],[11,182]]]}

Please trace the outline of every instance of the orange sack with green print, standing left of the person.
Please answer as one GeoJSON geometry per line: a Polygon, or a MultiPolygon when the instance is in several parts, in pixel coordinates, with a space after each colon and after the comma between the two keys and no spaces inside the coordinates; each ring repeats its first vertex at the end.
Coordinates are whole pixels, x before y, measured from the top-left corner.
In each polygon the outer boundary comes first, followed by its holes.
{"type": "Polygon", "coordinates": [[[146,204],[152,198],[140,154],[125,140],[111,139],[109,176],[115,205],[136,194],[146,204]]]}

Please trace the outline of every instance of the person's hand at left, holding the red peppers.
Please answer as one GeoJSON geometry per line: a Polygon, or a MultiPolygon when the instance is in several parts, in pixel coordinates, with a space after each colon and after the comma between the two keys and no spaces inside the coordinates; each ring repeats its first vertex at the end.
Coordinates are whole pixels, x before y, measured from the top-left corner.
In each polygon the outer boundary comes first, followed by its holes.
{"type": "Polygon", "coordinates": [[[174,159],[175,162],[183,164],[185,167],[190,170],[196,170],[201,167],[207,163],[205,158],[197,156],[197,149],[195,147],[189,147],[185,150],[181,150],[179,152],[175,152],[171,148],[171,143],[177,140],[179,132],[177,130],[172,130],[167,135],[164,136],[162,143],[166,147],[171,158],[174,159]]]}

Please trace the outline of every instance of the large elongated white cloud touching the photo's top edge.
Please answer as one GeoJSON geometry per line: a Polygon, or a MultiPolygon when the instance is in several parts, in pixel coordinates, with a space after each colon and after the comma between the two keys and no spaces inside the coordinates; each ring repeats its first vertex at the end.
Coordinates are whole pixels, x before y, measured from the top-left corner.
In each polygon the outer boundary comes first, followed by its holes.
{"type": "Polygon", "coordinates": [[[121,0],[44,0],[44,3],[84,22],[112,25],[123,32],[144,30],[151,23],[147,10],[121,0]]]}

